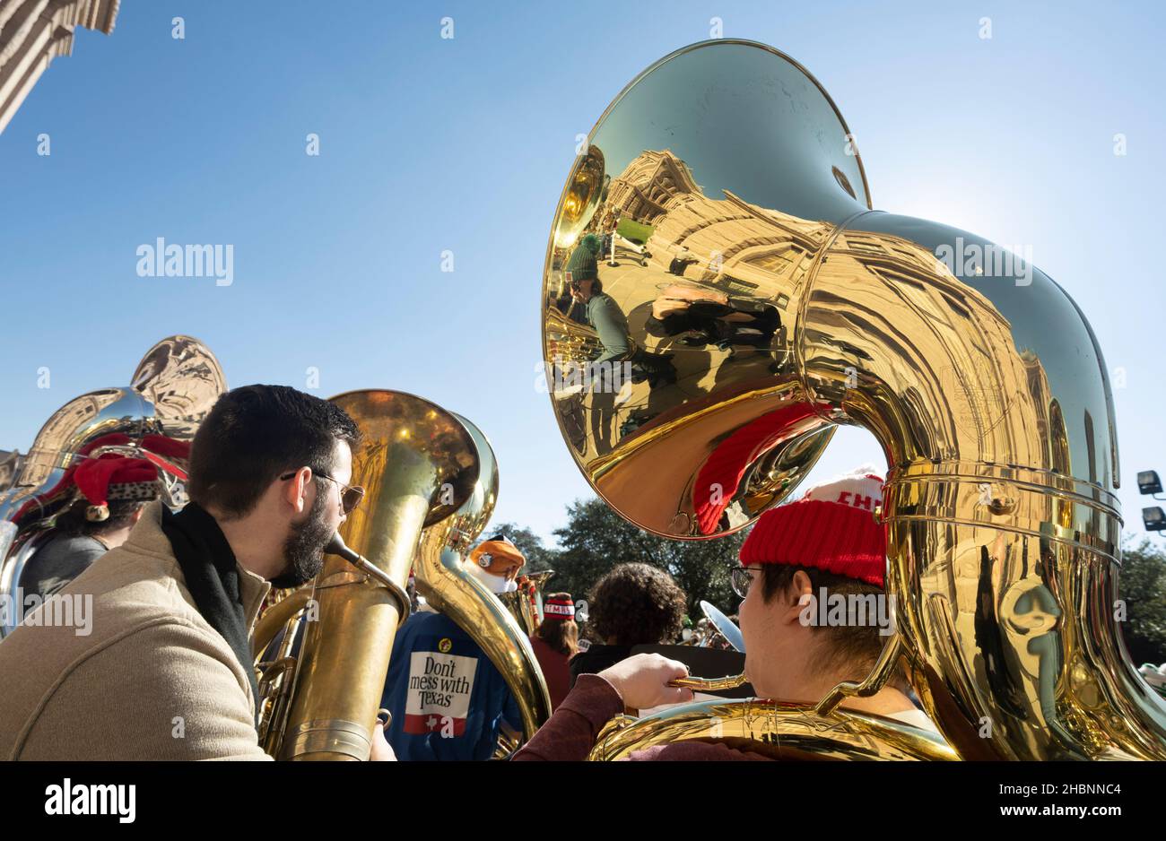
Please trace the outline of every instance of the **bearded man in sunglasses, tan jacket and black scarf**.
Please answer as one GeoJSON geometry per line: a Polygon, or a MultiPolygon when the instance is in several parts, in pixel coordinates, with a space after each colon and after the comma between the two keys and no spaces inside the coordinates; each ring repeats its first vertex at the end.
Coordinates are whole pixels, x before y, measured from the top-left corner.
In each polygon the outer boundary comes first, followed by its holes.
{"type": "MultiPolygon", "coordinates": [[[[0,645],[0,758],[268,758],[248,637],[268,589],[312,579],[359,503],[358,437],[286,386],[223,395],[191,446],[191,502],[147,506],[58,594],[92,599],[87,632],[26,622],[0,645]]],[[[373,732],[372,758],[391,758],[373,732]]]]}

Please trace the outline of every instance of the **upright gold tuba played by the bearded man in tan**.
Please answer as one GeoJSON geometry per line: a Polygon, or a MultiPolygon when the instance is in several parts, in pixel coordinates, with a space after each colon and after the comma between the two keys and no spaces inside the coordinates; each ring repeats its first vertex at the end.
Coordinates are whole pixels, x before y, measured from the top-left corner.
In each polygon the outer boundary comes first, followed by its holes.
{"type": "Polygon", "coordinates": [[[311,587],[268,608],[255,627],[257,657],[285,630],[260,676],[260,744],[281,759],[368,758],[419,537],[455,514],[478,481],[476,443],[444,409],[400,391],[331,400],[361,433],[352,485],[365,488],[364,504],[340,528],[359,557],[330,554],[311,587]],[[300,616],[312,609],[316,621],[303,623],[293,657],[300,616]]]}

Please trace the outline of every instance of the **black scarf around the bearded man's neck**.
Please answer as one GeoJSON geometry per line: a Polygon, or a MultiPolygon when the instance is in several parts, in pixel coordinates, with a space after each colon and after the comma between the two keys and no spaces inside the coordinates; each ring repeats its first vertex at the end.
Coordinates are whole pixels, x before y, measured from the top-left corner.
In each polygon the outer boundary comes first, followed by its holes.
{"type": "Polygon", "coordinates": [[[258,714],[259,684],[247,639],[239,568],[231,544],[215,517],[197,502],[188,503],[178,514],[171,514],[163,506],[162,531],[170,540],[195,607],[208,624],[223,635],[247,673],[258,714]]]}

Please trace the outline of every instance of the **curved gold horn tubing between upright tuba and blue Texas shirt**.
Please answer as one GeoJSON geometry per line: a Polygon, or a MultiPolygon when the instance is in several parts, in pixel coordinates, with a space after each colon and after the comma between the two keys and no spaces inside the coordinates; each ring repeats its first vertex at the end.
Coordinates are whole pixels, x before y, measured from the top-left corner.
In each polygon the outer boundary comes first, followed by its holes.
{"type": "Polygon", "coordinates": [[[550,695],[527,638],[529,631],[464,566],[470,544],[490,522],[498,501],[498,462],[482,430],[459,415],[455,417],[473,438],[480,471],[462,508],[423,532],[414,567],[417,591],[464,629],[498,667],[514,693],[522,735],[529,740],[550,718],[550,695]]]}

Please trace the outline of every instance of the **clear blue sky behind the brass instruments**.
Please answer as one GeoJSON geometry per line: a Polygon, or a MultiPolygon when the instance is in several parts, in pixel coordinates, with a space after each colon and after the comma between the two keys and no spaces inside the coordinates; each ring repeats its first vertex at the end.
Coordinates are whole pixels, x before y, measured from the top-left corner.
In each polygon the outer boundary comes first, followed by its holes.
{"type": "MultiPolygon", "coordinates": [[[[27,450],[62,403],[126,384],[154,341],[188,333],[233,386],[303,388],[314,366],[321,396],[394,388],[465,415],[498,454],[496,521],[549,537],[589,494],[534,388],[575,136],[715,16],[821,80],[876,207],[1032,243],[1121,369],[1140,532],[1136,472],[1166,475],[1157,2],[124,0],[113,35],[78,30],[0,135],[0,448],[27,450]],[[233,284],[139,277],[135,249],[157,236],[232,243],[233,284]]],[[[816,475],[879,459],[843,430],[816,475]]]]}

